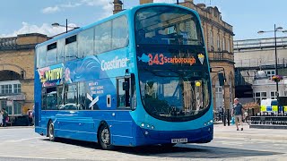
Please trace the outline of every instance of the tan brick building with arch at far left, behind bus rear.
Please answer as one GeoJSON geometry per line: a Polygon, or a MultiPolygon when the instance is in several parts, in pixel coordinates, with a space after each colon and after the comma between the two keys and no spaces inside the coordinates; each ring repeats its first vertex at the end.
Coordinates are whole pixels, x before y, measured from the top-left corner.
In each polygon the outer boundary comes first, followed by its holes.
{"type": "Polygon", "coordinates": [[[0,38],[0,108],[12,118],[26,114],[34,104],[35,46],[46,40],[38,33],[0,38]]]}

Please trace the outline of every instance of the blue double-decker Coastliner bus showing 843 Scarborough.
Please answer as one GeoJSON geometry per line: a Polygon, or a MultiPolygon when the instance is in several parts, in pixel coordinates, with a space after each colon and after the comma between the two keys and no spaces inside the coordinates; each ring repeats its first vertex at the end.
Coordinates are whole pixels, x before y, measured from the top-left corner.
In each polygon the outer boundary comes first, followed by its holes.
{"type": "Polygon", "coordinates": [[[36,47],[35,131],[114,146],[213,140],[198,13],[144,4],[36,47]]]}

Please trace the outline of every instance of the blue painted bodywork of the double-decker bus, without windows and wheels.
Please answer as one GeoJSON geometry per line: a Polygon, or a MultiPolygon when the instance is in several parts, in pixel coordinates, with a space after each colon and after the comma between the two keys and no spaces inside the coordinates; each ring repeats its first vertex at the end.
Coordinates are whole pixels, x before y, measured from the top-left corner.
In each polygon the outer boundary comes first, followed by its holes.
{"type": "MultiPolygon", "coordinates": [[[[136,83],[136,97],[137,106],[135,111],[131,110],[117,110],[116,108],[116,77],[125,76],[125,70],[128,69],[129,72],[135,73],[135,82],[138,82],[138,73],[136,72],[136,56],[135,56],[135,33],[134,33],[134,14],[135,12],[142,8],[154,5],[169,5],[180,8],[185,8],[183,6],[178,6],[175,4],[144,4],[139,5],[130,10],[117,13],[112,15],[108,19],[98,21],[86,27],[82,27],[78,30],[73,30],[66,34],[63,34],[57,38],[50,39],[39,46],[47,46],[50,43],[57,41],[57,39],[66,38],[73,36],[81,32],[82,30],[87,30],[92,28],[103,21],[113,19],[117,16],[126,14],[129,21],[129,47],[118,49],[116,51],[111,51],[106,54],[101,55],[91,55],[83,59],[77,59],[75,61],[67,62],[65,64],[57,64],[56,66],[50,66],[50,69],[56,68],[58,66],[63,66],[63,71],[69,68],[71,71],[71,80],[73,82],[78,81],[89,81],[97,82],[104,87],[103,93],[97,95],[99,96],[99,106],[100,110],[94,111],[48,111],[41,110],[41,87],[42,83],[39,81],[39,69],[36,68],[35,64],[35,116],[36,116],[36,127],[35,131],[38,133],[48,134],[48,122],[52,121],[55,124],[55,136],[63,137],[75,140],[88,140],[88,141],[98,141],[97,132],[99,125],[102,121],[109,124],[109,130],[111,133],[111,142],[114,145],[120,146],[140,146],[148,144],[159,144],[159,143],[170,143],[171,139],[175,138],[188,138],[188,142],[209,142],[213,140],[213,100],[211,100],[211,106],[206,114],[201,118],[188,122],[178,122],[171,123],[161,120],[157,120],[147,114],[143,109],[143,105],[140,99],[140,93],[138,92],[140,87],[136,83]],[[102,61],[108,62],[112,61],[117,56],[117,59],[128,58],[128,64],[125,68],[117,68],[109,71],[102,71],[102,61]],[[83,71],[84,69],[84,71],[83,71]],[[84,73],[83,73],[84,72],[84,73]],[[83,74],[82,74],[83,73],[83,74]],[[110,94],[112,98],[112,106],[107,107],[106,105],[106,95],[110,94]],[[141,124],[144,127],[141,127],[141,124]],[[207,123],[207,124],[204,124],[207,123]],[[147,124],[149,127],[147,127],[147,124]],[[151,129],[154,126],[154,129],[151,129]],[[208,129],[210,128],[210,131],[208,129]],[[144,134],[145,131],[148,134],[144,134]]],[[[193,11],[193,10],[190,10],[193,11]]],[[[194,11],[193,11],[194,12],[194,11]]],[[[196,12],[195,12],[196,13],[196,12]]],[[[199,15],[196,13],[196,17],[199,19],[199,15]]],[[[39,47],[37,46],[37,47],[39,47]]],[[[206,53],[206,52],[205,52],[206,53]]],[[[205,56],[208,59],[208,56],[205,56]]],[[[144,57],[143,57],[144,60],[144,57]]],[[[35,56],[36,62],[36,56],[35,56]]],[[[208,66],[209,67],[209,66],[208,66]]],[[[63,83],[63,80],[55,81],[57,83],[63,83]]],[[[67,82],[69,83],[69,82],[67,82]]],[[[87,82],[89,83],[89,82],[87,82]]],[[[92,90],[92,89],[91,89],[92,90]]],[[[92,95],[92,98],[96,97],[92,95]]],[[[212,99],[212,97],[211,97],[212,99]]]]}

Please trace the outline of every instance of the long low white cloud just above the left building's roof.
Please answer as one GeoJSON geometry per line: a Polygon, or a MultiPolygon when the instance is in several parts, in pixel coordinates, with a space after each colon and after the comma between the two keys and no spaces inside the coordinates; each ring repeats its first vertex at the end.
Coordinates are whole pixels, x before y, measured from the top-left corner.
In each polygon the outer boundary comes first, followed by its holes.
{"type": "MultiPolygon", "coordinates": [[[[68,26],[76,26],[74,23],[68,24],[68,26]]],[[[68,29],[70,30],[70,29],[68,29]]],[[[1,35],[2,38],[7,37],[15,37],[19,34],[27,34],[27,33],[41,33],[44,35],[48,35],[48,37],[57,35],[59,33],[65,32],[65,28],[62,27],[52,27],[48,23],[43,23],[41,26],[29,24],[27,22],[22,22],[22,28],[20,30],[13,31],[12,34],[1,35]]]]}

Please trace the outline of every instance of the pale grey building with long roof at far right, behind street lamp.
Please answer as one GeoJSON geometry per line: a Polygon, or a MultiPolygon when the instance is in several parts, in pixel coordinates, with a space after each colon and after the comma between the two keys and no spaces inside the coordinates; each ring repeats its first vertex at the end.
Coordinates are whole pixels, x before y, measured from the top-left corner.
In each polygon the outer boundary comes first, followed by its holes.
{"type": "Polygon", "coordinates": [[[287,37],[242,39],[234,41],[235,87],[238,97],[250,97],[260,104],[262,99],[276,98],[276,83],[271,80],[278,75],[278,94],[287,97],[287,37]],[[262,73],[262,74],[259,74],[262,73]]]}

